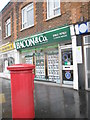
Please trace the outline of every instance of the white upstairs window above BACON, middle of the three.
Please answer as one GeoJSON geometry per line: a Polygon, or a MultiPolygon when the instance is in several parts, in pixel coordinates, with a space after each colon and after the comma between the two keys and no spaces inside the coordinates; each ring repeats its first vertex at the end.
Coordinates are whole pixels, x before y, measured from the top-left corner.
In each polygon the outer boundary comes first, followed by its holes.
{"type": "Polygon", "coordinates": [[[33,3],[22,9],[22,29],[34,25],[34,8],[33,3]]]}

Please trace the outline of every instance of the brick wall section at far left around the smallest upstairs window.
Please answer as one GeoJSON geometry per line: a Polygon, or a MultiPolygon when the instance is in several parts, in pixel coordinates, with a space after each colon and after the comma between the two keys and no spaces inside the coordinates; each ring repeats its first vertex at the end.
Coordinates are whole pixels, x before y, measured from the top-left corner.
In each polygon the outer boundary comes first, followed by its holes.
{"type": "Polygon", "coordinates": [[[11,42],[14,40],[14,26],[15,26],[15,3],[8,3],[8,5],[2,10],[2,44],[11,42]],[[11,18],[11,36],[5,38],[5,22],[8,18],[11,18]]]}

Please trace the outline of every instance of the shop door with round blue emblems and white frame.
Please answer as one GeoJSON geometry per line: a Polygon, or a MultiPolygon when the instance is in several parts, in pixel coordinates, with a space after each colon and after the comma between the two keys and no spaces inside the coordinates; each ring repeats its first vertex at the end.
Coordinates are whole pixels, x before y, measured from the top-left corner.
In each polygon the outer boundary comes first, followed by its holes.
{"type": "Polygon", "coordinates": [[[73,55],[72,45],[60,46],[61,84],[73,86],[73,55]]]}

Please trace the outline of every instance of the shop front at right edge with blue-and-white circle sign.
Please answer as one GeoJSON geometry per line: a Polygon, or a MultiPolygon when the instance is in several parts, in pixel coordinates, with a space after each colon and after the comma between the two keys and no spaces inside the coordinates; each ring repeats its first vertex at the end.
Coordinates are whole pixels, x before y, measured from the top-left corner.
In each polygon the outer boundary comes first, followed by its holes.
{"type": "Polygon", "coordinates": [[[78,64],[79,87],[90,90],[90,21],[76,24],[75,34],[77,47],[82,51],[82,61],[78,64]]]}

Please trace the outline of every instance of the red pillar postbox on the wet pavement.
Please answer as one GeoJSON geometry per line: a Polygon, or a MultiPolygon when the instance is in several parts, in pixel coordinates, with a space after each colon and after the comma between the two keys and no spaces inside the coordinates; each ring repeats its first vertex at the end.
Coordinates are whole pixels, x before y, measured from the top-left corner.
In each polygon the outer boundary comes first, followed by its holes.
{"type": "Polygon", "coordinates": [[[15,64],[7,67],[11,74],[12,118],[35,118],[34,65],[15,64]]]}

